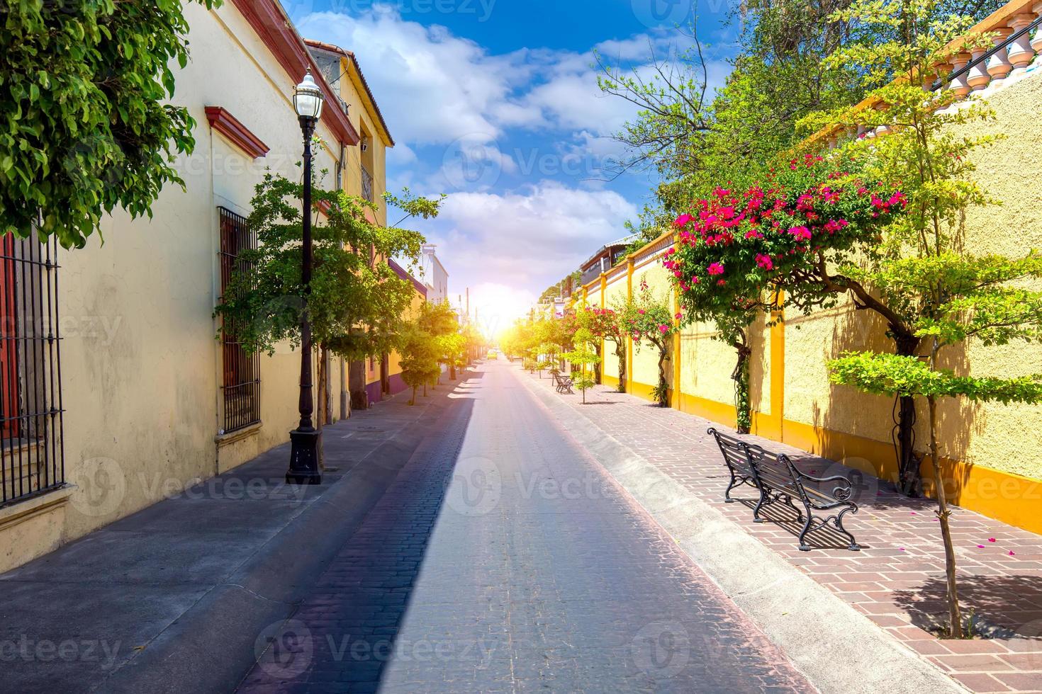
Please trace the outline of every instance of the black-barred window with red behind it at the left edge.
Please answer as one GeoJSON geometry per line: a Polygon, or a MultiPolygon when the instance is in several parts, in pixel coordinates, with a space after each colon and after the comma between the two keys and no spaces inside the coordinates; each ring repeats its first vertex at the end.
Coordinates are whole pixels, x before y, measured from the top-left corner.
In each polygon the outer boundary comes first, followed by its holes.
{"type": "Polygon", "coordinates": [[[57,249],[0,237],[0,506],[65,486],[57,249]]]}

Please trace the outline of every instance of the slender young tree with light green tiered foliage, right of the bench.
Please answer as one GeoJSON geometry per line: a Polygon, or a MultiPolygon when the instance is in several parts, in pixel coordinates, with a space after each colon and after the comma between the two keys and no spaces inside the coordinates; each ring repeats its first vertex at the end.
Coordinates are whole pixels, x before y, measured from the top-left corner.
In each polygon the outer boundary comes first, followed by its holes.
{"type": "Polygon", "coordinates": [[[933,0],[857,0],[842,12],[848,21],[879,27],[891,41],[857,51],[838,51],[829,59],[855,65],[866,79],[891,71],[900,76],[872,92],[887,109],[847,109],[828,113],[834,126],[886,126],[893,132],[876,137],[871,161],[885,181],[900,182],[908,198],[905,212],[887,229],[873,262],[843,268],[846,276],[871,286],[879,301],[907,327],[916,350],[898,355],[859,353],[830,363],[836,383],[866,392],[926,399],[929,459],[937,495],[937,515],[944,542],[949,624],[948,636],[964,636],[957,585],[951,514],[945,496],[937,438],[938,402],[965,396],[975,401],[1036,403],[1042,401],[1042,376],[974,378],[956,376],[940,366],[944,350],[969,339],[985,344],[1037,340],[1042,336],[1042,292],[1023,282],[1042,277],[1042,256],[1022,258],[976,255],[965,250],[966,210],[989,199],[974,180],[970,155],[992,137],[969,137],[960,127],[991,120],[977,101],[949,109],[959,97],[945,89],[925,98],[922,85],[933,82],[934,66],[967,46],[990,46],[989,36],[964,36],[972,20],[936,21],[933,0]]]}

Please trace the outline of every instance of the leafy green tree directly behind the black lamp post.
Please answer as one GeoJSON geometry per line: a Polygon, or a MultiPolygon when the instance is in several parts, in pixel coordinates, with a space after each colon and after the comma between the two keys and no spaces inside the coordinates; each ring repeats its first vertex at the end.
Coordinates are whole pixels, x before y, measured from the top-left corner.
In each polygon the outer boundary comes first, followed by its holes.
{"type": "Polygon", "coordinates": [[[307,290],[301,282],[300,183],[267,174],[257,184],[249,225],[257,248],[239,256],[235,271],[215,309],[221,333],[247,352],[273,354],[287,340],[300,346],[300,312],[306,310],[318,360],[317,420],[326,418],[327,352],[349,360],[389,352],[414,288],[382,258],[419,258],[418,232],[374,225],[366,211],[373,204],[343,191],[315,187],[313,216],[326,209],[326,221],[313,227],[314,268],[307,290]]]}

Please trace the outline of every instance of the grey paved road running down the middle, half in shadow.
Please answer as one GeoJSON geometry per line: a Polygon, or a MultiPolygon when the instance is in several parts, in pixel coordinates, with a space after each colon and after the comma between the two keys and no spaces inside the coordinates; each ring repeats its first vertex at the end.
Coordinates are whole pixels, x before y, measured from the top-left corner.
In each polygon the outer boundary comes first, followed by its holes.
{"type": "Polygon", "coordinates": [[[458,384],[240,691],[813,691],[520,378],[458,384]]]}

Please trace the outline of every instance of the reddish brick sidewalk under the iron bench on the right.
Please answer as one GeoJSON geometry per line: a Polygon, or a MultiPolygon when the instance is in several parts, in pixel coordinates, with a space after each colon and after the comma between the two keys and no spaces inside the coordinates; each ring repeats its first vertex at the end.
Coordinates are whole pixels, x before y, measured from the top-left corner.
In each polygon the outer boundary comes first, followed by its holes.
{"type": "MultiPolygon", "coordinates": [[[[549,379],[527,378],[551,390],[549,379]]],[[[944,548],[929,499],[904,498],[858,470],[750,436],[793,456],[808,473],[844,473],[855,482],[861,508],[845,524],[862,551],[841,548],[839,538],[812,534],[817,548],[802,552],[796,547],[800,526],[794,513],[777,510],[780,505],[768,507],[772,510],[764,515],[773,522],[753,523],[748,487],[731,492],[743,503],[723,503],[728,475],[705,430],[713,426],[730,433],[726,427],[602,386],[587,392],[586,406],[579,394],[562,397],[964,686],[976,692],[1042,692],[1042,536],[954,509],[963,610],[976,615],[982,631],[993,638],[939,640],[925,631],[943,623],[947,614],[944,548]]]]}

